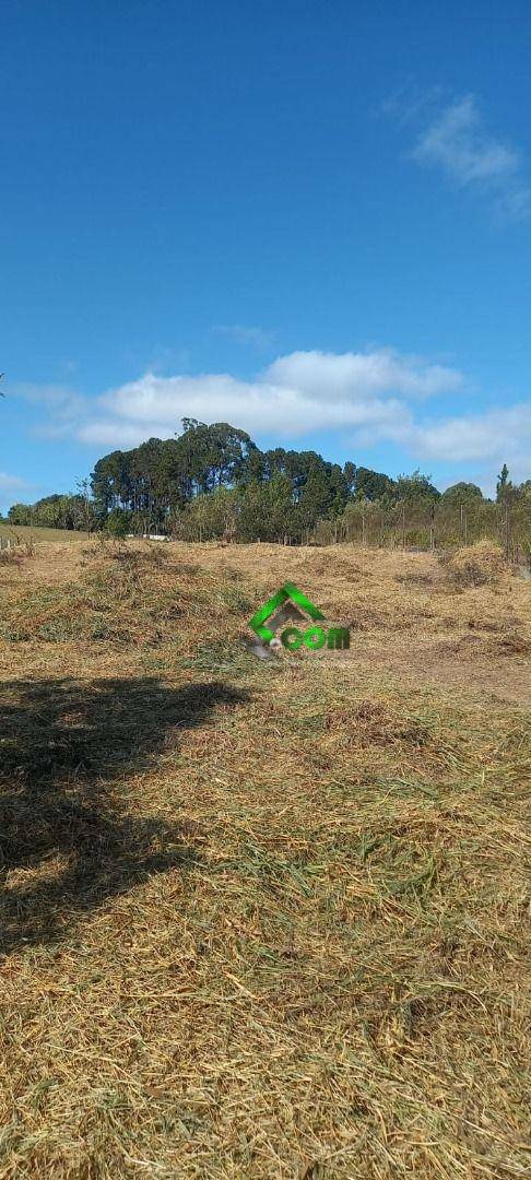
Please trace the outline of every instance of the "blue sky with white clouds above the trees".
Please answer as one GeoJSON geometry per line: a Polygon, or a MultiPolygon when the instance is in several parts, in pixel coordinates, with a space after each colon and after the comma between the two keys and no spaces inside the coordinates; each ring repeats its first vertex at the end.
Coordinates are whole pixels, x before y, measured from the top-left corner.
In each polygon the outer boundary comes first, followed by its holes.
{"type": "Polygon", "coordinates": [[[531,477],[531,12],[2,4],[0,509],[183,415],[531,477]]]}

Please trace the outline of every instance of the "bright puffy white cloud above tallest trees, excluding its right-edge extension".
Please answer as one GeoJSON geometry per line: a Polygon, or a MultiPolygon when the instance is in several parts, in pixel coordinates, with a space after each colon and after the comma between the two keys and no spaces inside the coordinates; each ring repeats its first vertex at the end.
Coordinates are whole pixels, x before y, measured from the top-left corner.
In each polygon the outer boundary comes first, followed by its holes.
{"type": "Polygon", "coordinates": [[[405,399],[455,391],[463,381],[455,369],[392,349],[299,352],[278,358],[251,381],[229,373],[146,373],[101,394],[76,433],[85,442],[133,446],[151,435],[168,438],[184,417],[286,438],[341,427],[391,431],[409,420],[405,399]]]}

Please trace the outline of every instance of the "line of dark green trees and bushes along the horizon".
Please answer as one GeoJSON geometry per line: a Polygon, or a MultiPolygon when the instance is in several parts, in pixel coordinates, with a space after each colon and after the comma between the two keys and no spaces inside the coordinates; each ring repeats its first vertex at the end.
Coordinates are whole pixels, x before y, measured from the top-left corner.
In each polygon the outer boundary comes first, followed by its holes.
{"type": "Polygon", "coordinates": [[[476,484],[440,492],[420,471],[392,479],[350,460],[329,463],[315,451],[261,451],[245,431],[228,422],[208,426],[185,418],[178,438],[112,451],[76,493],[14,504],[8,519],[113,536],[156,532],[189,540],[291,544],[343,538],[389,543],[398,533],[406,543],[407,531],[408,544],[420,538],[434,544],[448,530],[457,539],[468,532],[473,539],[478,529],[489,535],[504,522],[507,527],[509,511],[513,522],[522,517],[525,532],[531,479],[513,485],[506,465],[496,500],[490,500],[476,484]]]}

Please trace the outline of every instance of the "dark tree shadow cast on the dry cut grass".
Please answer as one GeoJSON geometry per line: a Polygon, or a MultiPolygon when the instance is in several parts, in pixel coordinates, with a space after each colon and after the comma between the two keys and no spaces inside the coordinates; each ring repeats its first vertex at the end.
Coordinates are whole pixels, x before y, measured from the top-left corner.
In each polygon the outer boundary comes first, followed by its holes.
{"type": "Polygon", "coordinates": [[[150,873],[201,864],[178,826],[127,815],[119,788],[183,729],[245,700],[152,677],[0,687],[0,953],[61,937],[150,873]]]}

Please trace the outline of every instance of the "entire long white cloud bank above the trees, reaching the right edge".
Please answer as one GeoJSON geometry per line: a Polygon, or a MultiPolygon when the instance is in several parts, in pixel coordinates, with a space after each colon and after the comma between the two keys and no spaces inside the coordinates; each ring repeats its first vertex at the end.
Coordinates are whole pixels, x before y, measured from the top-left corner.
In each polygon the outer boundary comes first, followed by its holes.
{"type": "Polygon", "coordinates": [[[249,381],[230,373],[146,373],[91,400],[55,386],[24,389],[51,412],[41,433],[106,450],[170,438],[182,418],[197,418],[232,422],[257,439],[296,441],[313,432],[341,432],[353,453],[387,441],[422,463],[473,463],[492,471],[506,460],[514,478],[517,471],[529,476],[530,401],[435,418],[427,399],[466,394],[464,375],[393,349],[290,353],[249,381]]]}

